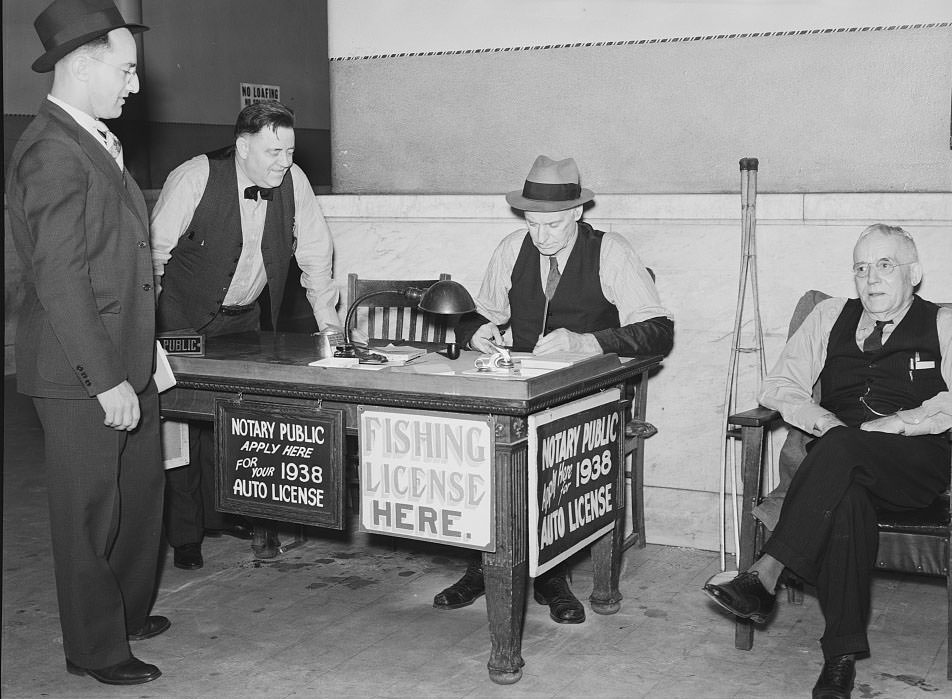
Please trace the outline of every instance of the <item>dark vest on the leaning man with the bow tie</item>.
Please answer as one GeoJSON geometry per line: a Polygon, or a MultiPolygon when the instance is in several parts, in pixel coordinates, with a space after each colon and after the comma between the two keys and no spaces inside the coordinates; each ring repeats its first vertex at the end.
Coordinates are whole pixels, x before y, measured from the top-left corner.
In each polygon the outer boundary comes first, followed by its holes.
{"type": "MultiPolygon", "coordinates": [[[[185,234],[165,265],[159,296],[159,331],[201,330],[218,313],[241,254],[234,149],[208,154],[208,183],[185,234]]],[[[277,318],[288,261],[294,253],[294,185],[290,173],[275,187],[265,215],[261,255],[277,318]]]]}

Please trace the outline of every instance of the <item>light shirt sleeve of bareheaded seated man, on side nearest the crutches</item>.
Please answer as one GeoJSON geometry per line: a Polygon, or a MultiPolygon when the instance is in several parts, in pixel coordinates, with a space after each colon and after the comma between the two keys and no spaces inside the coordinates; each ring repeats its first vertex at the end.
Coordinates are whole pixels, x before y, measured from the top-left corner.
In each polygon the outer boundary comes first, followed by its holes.
{"type": "Polygon", "coordinates": [[[773,370],[764,379],[760,404],[777,410],[783,419],[813,435],[843,424],[813,399],[813,385],[826,363],[833,324],[846,299],[821,301],[790,337],[773,370]]]}

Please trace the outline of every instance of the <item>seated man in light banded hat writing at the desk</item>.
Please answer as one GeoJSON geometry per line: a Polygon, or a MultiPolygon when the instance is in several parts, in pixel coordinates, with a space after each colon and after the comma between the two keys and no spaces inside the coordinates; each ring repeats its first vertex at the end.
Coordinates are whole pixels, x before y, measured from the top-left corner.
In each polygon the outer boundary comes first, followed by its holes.
{"type": "MultiPolygon", "coordinates": [[[[661,304],[651,274],[628,241],[580,220],[594,194],[582,189],[572,158],[536,158],[522,190],[506,201],[524,213],[526,227],[496,248],[476,299],[477,312],[456,331],[460,346],[492,353],[512,335],[512,349],[535,354],[568,351],[623,356],[667,354],[674,321],[661,304]]],[[[433,599],[458,609],[485,593],[482,565],[433,599]]],[[[560,624],[585,621],[562,567],[534,581],[539,604],[560,624]]]]}

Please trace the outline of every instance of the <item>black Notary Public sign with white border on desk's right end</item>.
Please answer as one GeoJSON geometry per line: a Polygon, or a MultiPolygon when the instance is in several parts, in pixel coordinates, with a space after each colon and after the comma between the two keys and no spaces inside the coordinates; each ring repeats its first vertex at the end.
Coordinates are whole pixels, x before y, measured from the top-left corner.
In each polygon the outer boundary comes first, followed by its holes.
{"type": "Polygon", "coordinates": [[[624,449],[614,388],[529,416],[529,575],[611,531],[624,449]]]}

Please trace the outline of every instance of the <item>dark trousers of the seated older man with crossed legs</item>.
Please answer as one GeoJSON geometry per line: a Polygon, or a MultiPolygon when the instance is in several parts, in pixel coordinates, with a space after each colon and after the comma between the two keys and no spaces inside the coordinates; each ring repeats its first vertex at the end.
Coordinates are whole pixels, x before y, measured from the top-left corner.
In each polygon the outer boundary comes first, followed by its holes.
{"type": "Polygon", "coordinates": [[[816,586],[826,621],[821,639],[826,659],[869,653],[876,508],[926,507],[948,487],[944,435],[905,437],[837,427],[813,443],[764,553],[816,586]]]}

